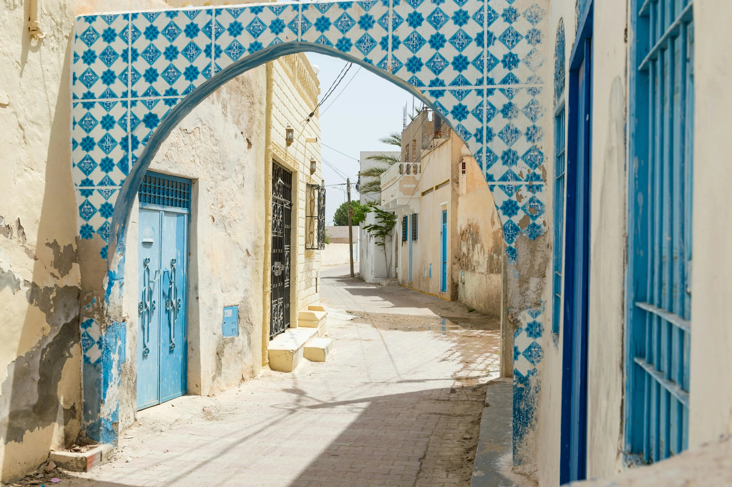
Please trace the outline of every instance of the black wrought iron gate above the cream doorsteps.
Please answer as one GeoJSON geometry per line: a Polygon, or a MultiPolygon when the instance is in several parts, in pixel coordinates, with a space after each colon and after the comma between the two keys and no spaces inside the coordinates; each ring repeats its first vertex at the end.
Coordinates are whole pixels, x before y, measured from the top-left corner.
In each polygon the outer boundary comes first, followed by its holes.
{"type": "Polygon", "coordinates": [[[272,281],[269,338],[290,326],[292,173],[272,161],[272,281]]]}

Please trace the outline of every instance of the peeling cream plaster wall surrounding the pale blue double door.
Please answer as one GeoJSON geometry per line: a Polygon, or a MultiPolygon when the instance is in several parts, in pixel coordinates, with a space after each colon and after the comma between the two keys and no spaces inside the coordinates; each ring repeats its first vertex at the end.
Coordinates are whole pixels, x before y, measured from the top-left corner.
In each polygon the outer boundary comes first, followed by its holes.
{"type": "MultiPolygon", "coordinates": [[[[264,268],[264,90],[258,67],[219,88],[173,129],[149,169],[190,178],[188,392],[210,395],[261,369],[264,268]],[[239,306],[239,336],[223,338],[224,306],[239,306]]],[[[127,361],[121,428],[135,417],[138,324],[138,205],[125,267],[127,361]]]]}

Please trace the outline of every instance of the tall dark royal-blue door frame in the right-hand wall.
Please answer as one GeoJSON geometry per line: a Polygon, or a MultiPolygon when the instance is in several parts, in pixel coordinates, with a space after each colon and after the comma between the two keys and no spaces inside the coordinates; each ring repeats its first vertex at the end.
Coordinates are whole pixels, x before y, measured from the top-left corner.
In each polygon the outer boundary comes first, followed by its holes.
{"type": "Polygon", "coordinates": [[[560,483],[586,477],[587,318],[592,121],[592,18],[588,2],[569,58],[567,216],[564,259],[564,337],[560,483]]]}

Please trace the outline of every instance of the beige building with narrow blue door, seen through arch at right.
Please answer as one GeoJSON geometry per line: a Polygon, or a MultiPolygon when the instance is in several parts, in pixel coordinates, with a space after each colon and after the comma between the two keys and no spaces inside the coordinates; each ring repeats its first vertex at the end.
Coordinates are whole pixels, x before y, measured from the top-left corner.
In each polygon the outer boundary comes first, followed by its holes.
{"type": "MultiPolygon", "coordinates": [[[[501,224],[485,176],[460,137],[424,110],[402,132],[402,162],[381,175],[381,208],[397,216],[374,266],[399,284],[498,316],[501,224]]],[[[366,223],[374,219],[369,214],[366,223]]],[[[370,241],[373,238],[367,235],[370,241]]],[[[386,277],[385,275],[377,277],[386,277]]]]}

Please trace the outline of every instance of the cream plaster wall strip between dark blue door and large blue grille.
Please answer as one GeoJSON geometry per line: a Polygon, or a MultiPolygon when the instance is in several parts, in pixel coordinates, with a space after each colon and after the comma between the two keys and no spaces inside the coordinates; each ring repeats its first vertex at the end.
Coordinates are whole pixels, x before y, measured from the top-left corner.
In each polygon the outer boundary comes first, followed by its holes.
{"type": "Polygon", "coordinates": [[[594,6],[587,477],[622,468],[627,262],[627,10],[594,6]]]}

